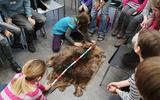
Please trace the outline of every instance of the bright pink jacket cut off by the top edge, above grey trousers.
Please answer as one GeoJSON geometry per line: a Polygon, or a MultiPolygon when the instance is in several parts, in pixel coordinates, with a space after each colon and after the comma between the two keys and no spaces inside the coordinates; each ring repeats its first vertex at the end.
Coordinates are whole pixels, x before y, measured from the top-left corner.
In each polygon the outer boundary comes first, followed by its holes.
{"type": "Polygon", "coordinates": [[[132,1],[132,2],[134,2],[134,3],[139,4],[140,6],[137,8],[136,11],[137,11],[137,12],[141,12],[141,11],[144,9],[144,7],[146,6],[148,0],[144,0],[142,4],[139,2],[139,0],[123,0],[123,7],[124,7],[125,5],[127,5],[127,3],[128,3],[129,1],[132,1]]]}

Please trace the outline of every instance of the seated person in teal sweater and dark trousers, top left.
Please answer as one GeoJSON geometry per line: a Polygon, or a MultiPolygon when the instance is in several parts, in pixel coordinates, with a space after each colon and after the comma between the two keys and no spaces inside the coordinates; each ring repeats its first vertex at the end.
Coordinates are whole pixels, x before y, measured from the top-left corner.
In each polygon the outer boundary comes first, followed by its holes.
{"type": "Polygon", "coordinates": [[[36,31],[44,25],[46,18],[32,10],[30,0],[0,0],[0,2],[0,9],[6,22],[24,29],[28,50],[35,52],[33,39],[36,39],[36,31]]]}

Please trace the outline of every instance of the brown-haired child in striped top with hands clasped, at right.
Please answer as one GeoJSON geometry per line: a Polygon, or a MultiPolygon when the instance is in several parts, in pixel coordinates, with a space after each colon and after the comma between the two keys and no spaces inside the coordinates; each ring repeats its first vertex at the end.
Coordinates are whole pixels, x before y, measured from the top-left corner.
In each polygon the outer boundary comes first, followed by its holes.
{"type": "MultiPolygon", "coordinates": [[[[137,40],[134,42],[134,51],[143,61],[146,58],[160,56],[160,35],[156,30],[143,30],[138,34],[137,40]]],[[[135,85],[134,74],[128,79],[120,82],[111,82],[107,85],[107,90],[117,93],[122,100],[140,100],[139,92],[135,85]],[[122,87],[130,86],[129,92],[120,90],[122,87]]]]}

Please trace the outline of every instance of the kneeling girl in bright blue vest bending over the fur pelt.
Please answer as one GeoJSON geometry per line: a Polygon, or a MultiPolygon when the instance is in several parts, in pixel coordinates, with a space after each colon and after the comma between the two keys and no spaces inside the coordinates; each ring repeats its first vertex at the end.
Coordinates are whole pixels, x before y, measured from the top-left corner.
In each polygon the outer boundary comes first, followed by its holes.
{"type": "Polygon", "coordinates": [[[87,26],[89,22],[90,17],[86,12],[82,12],[76,17],[64,17],[60,19],[52,28],[52,33],[54,35],[52,43],[53,52],[59,52],[61,40],[64,36],[72,45],[82,46],[82,43],[75,42],[70,37],[71,31],[76,28],[84,36],[85,40],[90,42],[87,34],[87,26]]]}

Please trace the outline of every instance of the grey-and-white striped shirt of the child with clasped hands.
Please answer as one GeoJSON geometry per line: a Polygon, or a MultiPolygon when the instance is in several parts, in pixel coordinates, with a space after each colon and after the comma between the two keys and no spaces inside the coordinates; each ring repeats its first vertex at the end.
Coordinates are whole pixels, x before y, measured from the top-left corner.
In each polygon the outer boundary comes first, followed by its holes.
{"type": "Polygon", "coordinates": [[[135,84],[135,74],[132,74],[128,81],[130,83],[130,91],[124,92],[120,90],[120,92],[118,92],[118,95],[122,98],[122,100],[140,100],[140,95],[135,84]]]}

